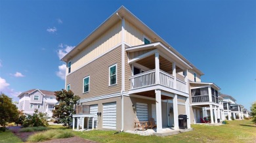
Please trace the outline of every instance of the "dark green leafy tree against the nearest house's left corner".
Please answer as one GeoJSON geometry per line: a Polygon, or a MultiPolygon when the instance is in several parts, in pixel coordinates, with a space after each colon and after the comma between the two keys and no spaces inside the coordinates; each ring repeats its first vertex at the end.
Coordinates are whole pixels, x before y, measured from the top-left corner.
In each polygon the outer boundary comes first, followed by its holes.
{"type": "Polygon", "coordinates": [[[56,100],[59,102],[58,105],[55,105],[53,110],[53,118],[57,123],[63,123],[64,126],[69,126],[72,123],[72,114],[74,114],[74,104],[77,104],[77,101],[80,99],[79,96],[69,90],[66,91],[55,91],[56,100]]]}

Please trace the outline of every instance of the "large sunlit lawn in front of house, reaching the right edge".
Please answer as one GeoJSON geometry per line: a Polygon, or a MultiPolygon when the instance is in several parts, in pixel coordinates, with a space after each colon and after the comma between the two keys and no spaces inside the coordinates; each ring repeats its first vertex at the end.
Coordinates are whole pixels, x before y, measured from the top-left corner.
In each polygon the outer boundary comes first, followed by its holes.
{"type": "Polygon", "coordinates": [[[116,131],[74,132],[96,142],[254,142],[256,125],[251,120],[228,121],[226,125],[192,125],[194,131],[173,136],[140,136],[116,131]]]}

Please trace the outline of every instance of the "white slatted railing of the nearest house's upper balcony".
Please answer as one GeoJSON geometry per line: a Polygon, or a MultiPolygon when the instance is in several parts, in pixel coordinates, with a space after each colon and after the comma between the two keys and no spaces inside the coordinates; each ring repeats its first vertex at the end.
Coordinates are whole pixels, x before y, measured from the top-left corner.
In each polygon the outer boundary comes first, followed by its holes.
{"type": "MultiPolygon", "coordinates": [[[[156,70],[146,71],[141,74],[136,74],[135,76],[131,76],[130,80],[130,89],[139,89],[142,87],[154,86],[156,84],[156,70]]],[[[169,87],[172,89],[177,89],[184,93],[186,91],[186,82],[176,79],[176,87],[175,87],[175,77],[167,72],[160,70],[160,85],[169,87]]]]}

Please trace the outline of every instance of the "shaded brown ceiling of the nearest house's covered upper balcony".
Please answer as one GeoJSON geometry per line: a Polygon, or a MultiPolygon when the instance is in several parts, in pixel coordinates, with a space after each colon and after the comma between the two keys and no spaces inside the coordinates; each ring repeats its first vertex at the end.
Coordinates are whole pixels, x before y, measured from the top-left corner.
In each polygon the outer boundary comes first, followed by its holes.
{"type": "MultiPolygon", "coordinates": [[[[155,69],[155,56],[152,55],[152,56],[145,57],[144,59],[140,59],[136,63],[139,63],[140,65],[143,65],[148,69],[155,69]]],[[[171,61],[168,61],[164,57],[160,56],[160,69],[169,74],[173,74],[172,73],[173,63],[171,63],[171,61]]],[[[176,66],[176,71],[181,72],[182,69],[176,66]]]]}

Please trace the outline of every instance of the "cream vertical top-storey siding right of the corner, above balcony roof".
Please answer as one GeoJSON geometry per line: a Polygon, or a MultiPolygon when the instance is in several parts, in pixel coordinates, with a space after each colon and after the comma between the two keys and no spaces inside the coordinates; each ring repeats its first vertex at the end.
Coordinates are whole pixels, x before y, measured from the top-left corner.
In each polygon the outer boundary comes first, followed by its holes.
{"type": "MultiPolygon", "coordinates": [[[[125,21],[125,42],[130,46],[138,46],[144,44],[144,33],[140,31],[135,25],[131,24],[127,20],[125,21]]],[[[146,35],[147,36],[147,35],[146,35]]],[[[152,39],[148,37],[148,40],[151,42],[152,39]]]]}

